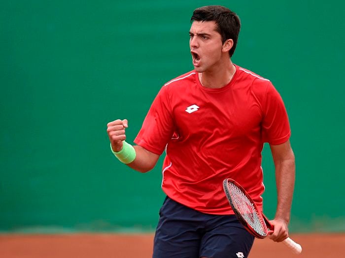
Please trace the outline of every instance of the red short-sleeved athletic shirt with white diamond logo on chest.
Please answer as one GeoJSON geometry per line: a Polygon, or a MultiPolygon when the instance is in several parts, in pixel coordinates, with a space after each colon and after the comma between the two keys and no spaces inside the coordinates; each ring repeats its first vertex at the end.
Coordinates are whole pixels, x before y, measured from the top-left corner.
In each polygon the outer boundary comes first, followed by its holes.
{"type": "Polygon", "coordinates": [[[135,143],[161,155],[163,191],[210,214],[233,214],[222,182],[233,178],[262,209],[263,144],[290,137],[283,101],[272,83],[236,65],[232,81],[206,88],[191,71],[165,84],[135,143]]]}

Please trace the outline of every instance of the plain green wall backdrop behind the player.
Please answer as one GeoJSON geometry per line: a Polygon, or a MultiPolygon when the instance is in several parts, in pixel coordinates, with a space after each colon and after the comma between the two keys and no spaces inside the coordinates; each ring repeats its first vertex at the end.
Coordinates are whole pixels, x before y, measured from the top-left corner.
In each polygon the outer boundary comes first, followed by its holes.
{"type": "MultiPolygon", "coordinates": [[[[134,140],[160,87],[193,69],[189,20],[207,4],[238,13],[233,61],[269,78],[286,104],[290,231],[345,231],[345,4],[335,0],[1,1],[0,231],[155,228],[162,158],[146,174],[120,164],[106,124],[127,118],[134,140]]],[[[263,168],[273,218],[267,146],[263,168]]]]}

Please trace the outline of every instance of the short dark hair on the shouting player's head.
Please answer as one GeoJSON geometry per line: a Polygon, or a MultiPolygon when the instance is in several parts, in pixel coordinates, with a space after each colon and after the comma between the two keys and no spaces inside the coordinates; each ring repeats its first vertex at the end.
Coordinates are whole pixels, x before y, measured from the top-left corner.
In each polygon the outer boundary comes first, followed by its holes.
{"type": "Polygon", "coordinates": [[[217,25],[216,30],[222,37],[222,43],[224,44],[227,39],[234,41],[234,46],[229,51],[230,57],[233,56],[241,28],[240,18],[236,13],[221,5],[208,5],[195,9],[190,21],[214,21],[217,25]]]}

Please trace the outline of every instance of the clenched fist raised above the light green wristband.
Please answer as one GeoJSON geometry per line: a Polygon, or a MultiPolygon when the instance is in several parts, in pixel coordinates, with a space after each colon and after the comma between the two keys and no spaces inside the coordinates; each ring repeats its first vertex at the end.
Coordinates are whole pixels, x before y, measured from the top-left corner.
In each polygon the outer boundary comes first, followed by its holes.
{"type": "Polygon", "coordinates": [[[117,119],[107,124],[106,132],[108,133],[111,148],[119,152],[123,147],[123,141],[126,140],[125,129],[128,127],[127,119],[117,119]]]}

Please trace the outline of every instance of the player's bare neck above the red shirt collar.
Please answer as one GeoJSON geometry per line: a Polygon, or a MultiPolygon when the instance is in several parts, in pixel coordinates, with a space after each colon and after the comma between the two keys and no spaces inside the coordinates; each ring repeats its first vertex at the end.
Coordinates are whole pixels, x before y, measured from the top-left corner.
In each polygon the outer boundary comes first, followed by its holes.
{"type": "Polygon", "coordinates": [[[230,60],[229,65],[220,69],[199,73],[199,81],[206,88],[222,88],[231,82],[235,72],[236,67],[230,60]]]}

